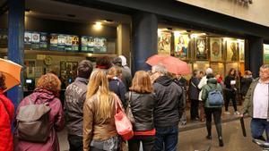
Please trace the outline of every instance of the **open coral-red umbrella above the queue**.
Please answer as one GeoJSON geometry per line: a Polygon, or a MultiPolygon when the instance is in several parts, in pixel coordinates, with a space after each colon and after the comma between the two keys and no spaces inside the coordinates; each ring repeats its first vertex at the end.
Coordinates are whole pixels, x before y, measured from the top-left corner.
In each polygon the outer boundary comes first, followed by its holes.
{"type": "Polygon", "coordinates": [[[191,73],[189,66],[186,62],[183,62],[181,60],[179,60],[176,57],[173,56],[163,56],[161,55],[160,57],[157,57],[155,55],[151,56],[150,58],[148,58],[148,60],[146,61],[146,63],[150,64],[150,65],[156,65],[158,63],[163,64],[167,70],[171,73],[175,73],[175,74],[189,74],[191,73]],[[154,56],[155,60],[152,59],[152,57],[154,56]]]}

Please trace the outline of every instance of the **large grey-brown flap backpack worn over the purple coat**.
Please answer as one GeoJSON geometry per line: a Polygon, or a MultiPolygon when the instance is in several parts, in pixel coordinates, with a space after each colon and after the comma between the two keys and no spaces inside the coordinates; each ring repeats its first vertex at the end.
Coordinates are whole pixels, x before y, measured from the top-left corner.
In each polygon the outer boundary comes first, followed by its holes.
{"type": "Polygon", "coordinates": [[[20,107],[16,116],[17,137],[31,142],[47,142],[49,135],[49,111],[46,104],[35,105],[31,100],[30,105],[20,107]]]}

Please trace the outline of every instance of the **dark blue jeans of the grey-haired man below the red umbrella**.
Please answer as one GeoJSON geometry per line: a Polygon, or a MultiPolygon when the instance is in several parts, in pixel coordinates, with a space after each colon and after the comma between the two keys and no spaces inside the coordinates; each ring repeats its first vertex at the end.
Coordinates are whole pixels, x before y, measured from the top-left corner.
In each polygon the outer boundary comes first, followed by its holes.
{"type": "Polygon", "coordinates": [[[178,125],[168,127],[155,127],[156,139],[155,151],[177,151],[178,145],[178,125]]]}

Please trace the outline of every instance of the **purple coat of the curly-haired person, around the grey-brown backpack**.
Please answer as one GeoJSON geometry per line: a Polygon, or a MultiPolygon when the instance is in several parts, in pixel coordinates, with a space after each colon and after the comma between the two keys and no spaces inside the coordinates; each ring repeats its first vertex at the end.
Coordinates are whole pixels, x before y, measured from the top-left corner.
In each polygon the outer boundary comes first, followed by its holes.
{"type": "MultiPolygon", "coordinates": [[[[50,134],[47,143],[33,143],[23,140],[15,141],[15,151],[59,151],[59,142],[56,131],[64,128],[64,111],[61,105],[61,101],[45,89],[36,89],[30,94],[31,100],[35,104],[41,104],[48,102],[51,110],[49,112],[50,134]]],[[[30,100],[25,97],[17,108],[16,114],[19,113],[19,109],[23,105],[29,105],[30,100]]]]}

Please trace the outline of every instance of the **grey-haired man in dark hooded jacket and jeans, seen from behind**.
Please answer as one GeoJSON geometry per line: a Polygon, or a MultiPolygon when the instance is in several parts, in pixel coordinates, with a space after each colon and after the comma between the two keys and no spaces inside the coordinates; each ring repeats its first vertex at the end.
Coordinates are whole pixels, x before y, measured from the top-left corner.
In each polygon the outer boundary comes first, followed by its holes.
{"type": "Polygon", "coordinates": [[[178,144],[178,122],[184,111],[184,89],[169,76],[163,65],[152,67],[153,87],[157,96],[154,111],[156,141],[154,150],[176,151],[178,144]],[[163,147],[164,146],[164,147],[163,147]]]}

